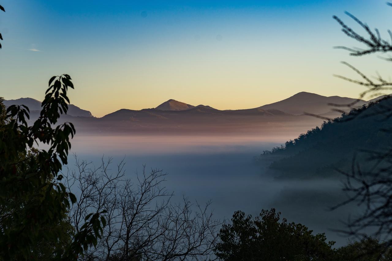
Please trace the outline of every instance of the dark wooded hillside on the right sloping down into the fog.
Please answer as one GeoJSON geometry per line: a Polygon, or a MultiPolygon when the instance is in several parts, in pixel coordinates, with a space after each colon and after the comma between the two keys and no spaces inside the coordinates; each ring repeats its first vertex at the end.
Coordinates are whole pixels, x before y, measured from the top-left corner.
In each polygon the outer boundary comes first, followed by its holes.
{"type": "MultiPolygon", "coordinates": [[[[367,173],[366,167],[378,164],[370,164],[369,159],[379,159],[377,153],[382,155],[381,152],[390,150],[390,132],[385,131],[392,127],[390,108],[392,98],[388,96],[354,109],[340,118],[324,122],[321,127],[303,132],[282,147],[265,151],[259,160],[270,159],[270,169],[278,171],[281,177],[329,176],[338,174],[334,169],[350,172],[356,155],[358,162],[368,163],[361,165],[367,173]]],[[[378,166],[383,167],[381,163],[378,166]]]]}

